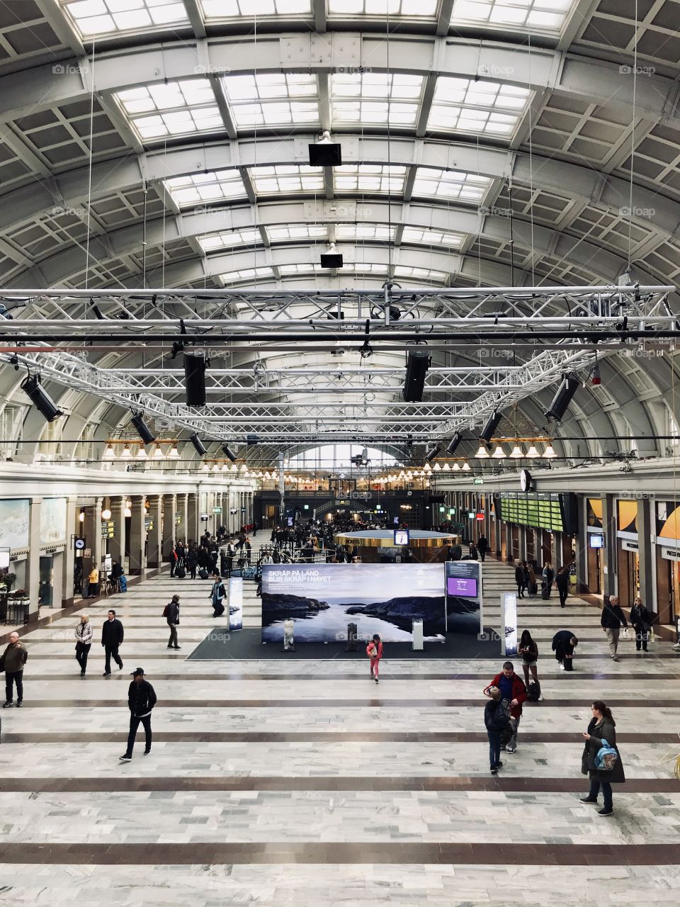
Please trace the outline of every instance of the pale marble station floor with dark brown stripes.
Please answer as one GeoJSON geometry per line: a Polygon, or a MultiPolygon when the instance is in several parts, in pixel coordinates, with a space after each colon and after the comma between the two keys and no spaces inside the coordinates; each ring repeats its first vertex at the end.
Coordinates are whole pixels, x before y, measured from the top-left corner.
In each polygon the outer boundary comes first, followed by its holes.
{"type": "MultiPolygon", "coordinates": [[[[485,623],[507,565],[484,565],[485,623]]],[[[475,904],[676,902],[680,884],[680,656],[657,641],[613,662],[597,609],[520,602],[539,643],[544,701],[524,707],[516,753],[491,775],[482,688],[490,661],[187,661],[220,620],[209,581],[168,574],[83,602],[24,635],[24,708],[0,746],[0,901],[14,904],[475,904]],[[180,651],[162,610],[181,596],[180,651]],[[73,628],[115,608],[124,668],[80,677],[73,628]],[[550,652],[580,639],[576,670],[550,652]],[[140,665],[159,697],[154,742],[121,763],[127,688],[140,665]],[[615,814],[578,802],[593,698],[617,718],[627,783],[615,814]]],[[[259,600],[246,584],[244,623],[259,600]]],[[[223,624],[223,621],[221,621],[223,624]]]]}

